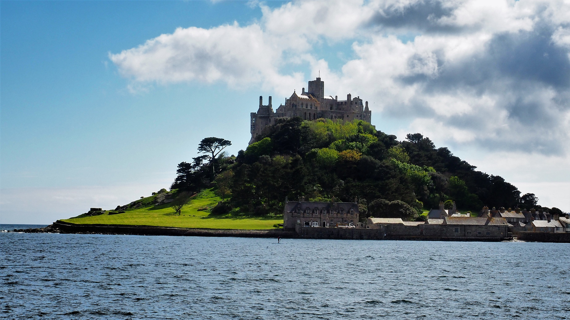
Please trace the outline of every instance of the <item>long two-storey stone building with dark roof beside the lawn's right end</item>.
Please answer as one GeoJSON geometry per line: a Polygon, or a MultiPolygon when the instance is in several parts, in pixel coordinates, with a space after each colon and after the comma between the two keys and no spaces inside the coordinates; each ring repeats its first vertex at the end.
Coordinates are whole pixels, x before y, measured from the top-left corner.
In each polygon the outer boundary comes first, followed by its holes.
{"type": "Polygon", "coordinates": [[[283,228],[356,227],[360,212],[356,202],[308,202],[285,200],[283,228]]]}

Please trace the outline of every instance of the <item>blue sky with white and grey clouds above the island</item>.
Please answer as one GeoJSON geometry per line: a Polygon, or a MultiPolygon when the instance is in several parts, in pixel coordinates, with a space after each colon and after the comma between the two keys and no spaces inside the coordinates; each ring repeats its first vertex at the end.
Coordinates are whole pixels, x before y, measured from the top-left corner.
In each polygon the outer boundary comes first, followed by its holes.
{"type": "Polygon", "coordinates": [[[169,187],[203,137],[249,141],[320,72],[399,140],[423,133],[570,211],[570,3],[1,2],[0,223],[169,187]]]}

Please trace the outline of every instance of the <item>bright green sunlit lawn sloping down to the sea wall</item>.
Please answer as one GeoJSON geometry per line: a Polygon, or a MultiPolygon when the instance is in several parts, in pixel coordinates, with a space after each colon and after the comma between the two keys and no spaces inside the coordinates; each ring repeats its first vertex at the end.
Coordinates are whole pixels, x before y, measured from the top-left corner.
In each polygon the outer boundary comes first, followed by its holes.
{"type": "Polygon", "coordinates": [[[194,199],[189,206],[182,208],[180,216],[174,215],[174,210],[169,207],[169,204],[161,204],[160,206],[127,211],[124,214],[108,215],[108,212],[105,212],[103,215],[62,221],[78,224],[131,224],[214,229],[272,229],[274,224],[283,223],[283,219],[212,216],[206,211],[197,210],[205,206],[213,207],[219,200],[221,199],[217,196],[194,199]]]}

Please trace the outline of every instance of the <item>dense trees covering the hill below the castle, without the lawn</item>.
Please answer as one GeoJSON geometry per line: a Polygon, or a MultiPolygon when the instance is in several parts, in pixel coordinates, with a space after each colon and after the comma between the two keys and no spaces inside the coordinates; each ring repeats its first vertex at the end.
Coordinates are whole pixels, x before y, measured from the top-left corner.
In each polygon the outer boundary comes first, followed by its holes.
{"type": "Polygon", "coordinates": [[[419,133],[400,142],[364,121],[284,118],[237,157],[221,153],[193,160],[178,165],[172,188],[198,191],[217,183],[223,198],[229,198],[220,212],[239,208],[254,215],[279,214],[286,196],[357,198],[368,216],[408,220],[446,200],[474,211],[483,205],[539,207],[534,195],[520,197],[503,178],[475,170],[419,133]]]}

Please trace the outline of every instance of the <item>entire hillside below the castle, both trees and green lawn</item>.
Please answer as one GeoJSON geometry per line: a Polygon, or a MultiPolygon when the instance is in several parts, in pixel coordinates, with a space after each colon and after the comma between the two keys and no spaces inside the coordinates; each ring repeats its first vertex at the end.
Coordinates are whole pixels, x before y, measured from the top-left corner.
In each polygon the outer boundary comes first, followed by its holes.
{"type": "Polygon", "coordinates": [[[202,155],[178,164],[170,191],[115,210],[124,213],[66,221],[263,229],[282,223],[286,197],[356,200],[361,220],[425,220],[439,202],[472,212],[483,206],[541,208],[534,194],[520,196],[502,177],[475,170],[419,133],[398,141],[365,121],[283,118],[237,156],[223,152],[229,145],[203,139],[202,155]]]}

